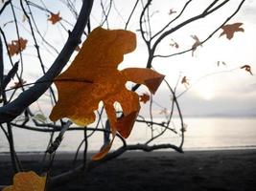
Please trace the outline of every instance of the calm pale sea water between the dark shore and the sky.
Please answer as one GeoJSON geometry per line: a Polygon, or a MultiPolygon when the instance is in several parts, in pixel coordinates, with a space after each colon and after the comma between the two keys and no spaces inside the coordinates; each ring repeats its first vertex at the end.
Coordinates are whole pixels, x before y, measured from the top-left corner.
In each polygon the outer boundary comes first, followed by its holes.
{"type": "MultiPolygon", "coordinates": [[[[161,122],[164,118],[156,118],[161,122]]],[[[184,150],[216,150],[216,149],[246,149],[256,148],[256,118],[255,117],[184,117],[186,132],[184,150]]],[[[179,130],[179,120],[174,120],[175,130],[179,130]]],[[[173,127],[174,127],[173,126],[173,127]]],[[[160,127],[153,127],[154,136],[161,133],[160,127]]],[[[87,132],[90,134],[91,132],[87,132]]],[[[58,136],[58,133],[56,133],[58,136]]],[[[13,138],[17,152],[45,151],[50,133],[41,133],[25,129],[13,128],[13,138]]],[[[83,131],[66,132],[58,148],[59,151],[76,151],[84,138],[83,131]]],[[[103,133],[94,133],[88,139],[88,150],[97,151],[103,144],[103,133]]],[[[151,128],[144,123],[136,123],[127,139],[128,144],[145,143],[151,138],[151,128]]],[[[165,133],[150,144],[173,143],[180,144],[180,134],[165,133]]],[[[116,138],[112,149],[122,145],[116,138]]],[[[8,141],[0,131],[0,152],[8,152],[8,141]]]]}

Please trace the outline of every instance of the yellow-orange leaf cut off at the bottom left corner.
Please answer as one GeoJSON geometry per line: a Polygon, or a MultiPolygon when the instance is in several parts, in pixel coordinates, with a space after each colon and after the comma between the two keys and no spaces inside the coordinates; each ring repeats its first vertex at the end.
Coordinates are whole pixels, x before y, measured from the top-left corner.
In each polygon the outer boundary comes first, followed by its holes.
{"type": "Polygon", "coordinates": [[[13,185],[3,191],[44,191],[46,177],[39,177],[34,171],[20,172],[14,175],[13,185]]]}

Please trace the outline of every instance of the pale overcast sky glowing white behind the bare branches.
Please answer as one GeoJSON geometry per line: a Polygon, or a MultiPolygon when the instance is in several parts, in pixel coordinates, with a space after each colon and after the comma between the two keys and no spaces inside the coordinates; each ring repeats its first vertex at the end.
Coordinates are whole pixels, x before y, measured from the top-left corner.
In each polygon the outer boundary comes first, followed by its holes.
{"type": "MultiPolygon", "coordinates": [[[[18,2],[17,0],[13,1],[18,2]]],[[[40,1],[34,1],[40,2],[40,1]]],[[[105,2],[105,1],[104,1],[105,2]]],[[[173,9],[179,12],[186,1],[184,0],[158,0],[151,4],[151,31],[157,32],[170,19],[173,19],[177,13],[169,15],[169,11],[173,9]]],[[[212,1],[195,0],[184,15],[180,17],[172,26],[196,15],[212,1]]],[[[226,7],[210,15],[207,18],[201,19],[198,22],[190,24],[181,30],[173,33],[163,40],[156,50],[156,54],[170,54],[176,53],[191,48],[194,40],[191,35],[197,35],[199,40],[206,38],[210,32],[213,32],[221,23],[236,10],[241,1],[232,0],[226,7]],[[178,49],[170,46],[170,43],[177,42],[178,49]]],[[[60,16],[70,23],[75,22],[74,15],[68,11],[61,1],[45,0],[45,5],[53,12],[60,12],[60,16]],[[60,3],[59,3],[60,2],[60,3]]],[[[115,0],[113,11],[109,14],[109,29],[122,29],[125,26],[125,21],[128,19],[128,13],[132,10],[135,0],[124,1],[115,0]]],[[[80,2],[78,1],[77,9],[80,9],[80,2]]],[[[1,5],[0,5],[1,8],[1,5]]],[[[28,24],[22,22],[22,13],[18,6],[17,17],[19,20],[19,27],[22,36],[29,39],[28,47],[24,51],[24,78],[28,82],[33,82],[42,73],[38,70],[38,60],[35,56],[35,49],[28,32],[28,24]]],[[[138,16],[141,11],[141,5],[135,10],[128,25],[128,30],[136,32],[137,35],[137,49],[133,53],[125,55],[124,62],[119,69],[122,70],[127,67],[145,67],[147,63],[147,49],[145,43],[141,39],[140,32],[137,32],[138,16]]],[[[33,9],[38,29],[42,31],[43,37],[55,45],[55,48],[60,51],[63,43],[67,38],[67,32],[63,31],[60,24],[52,25],[47,21],[48,14],[44,11],[33,9]]],[[[202,47],[198,47],[194,56],[192,53],[183,53],[181,55],[172,56],[169,58],[156,57],[153,62],[153,68],[166,75],[166,80],[174,87],[177,83],[178,101],[184,116],[234,116],[247,117],[256,116],[256,1],[246,0],[241,11],[239,11],[228,24],[242,22],[244,32],[235,32],[234,37],[228,40],[225,36],[220,36],[221,30],[208,40],[202,47]],[[223,61],[225,65],[218,61],[223,61]],[[250,65],[252,69],[251,75],[240,69],[243,65],[250,65]],[[189,79],[189,89],[180,83],[182,76],[187,76],[189,79]]],[[[8,21],[12,21],[11,10],[7,10],[1,15],[3,20],[0,20],[0,26],[8,33],[8,41],[11,42],[15,38],[13,32],[13,24],[5,25],[8,21]]],[[[96,28],[103,20],[101,13],[100,1],[96,0],[91,14],[92,28],[96,28]]],[[[72,30],[72,26],[68,25],[64,20],[62,25],[68,30],[72,30]]],[[[104,26],[107,27],[106,25],[104,26]]],[[[169,28],[170,29],[170,28],[169,28]]],[[[38,37],[40,39],[40,37],[38,37]]],[[[85,39],[83,36],[82,40],[85,39]]],[[[42,40],[39,40],[42,43],[42,40]]],[[[50,67],[58,53],[47,48],[47,46],[40,45],[41,52],[44,57],[44,64],[50,67]]],[[[76,53],[74,53],[73,58],[76,53]]],[[[13,57],[18,60],[18,56],[13,57]]],[[[5,57],[5,62],[8,62],[8,57],[5,57]]],[[[10,66],[11,67],[11,66],[10,66]]],[[[10,68],[6,68],[7,73],[10,68]]],[[[128,86],[130,86],[128,84],[128,86]]],[[[149,92],[145,87],[140,88],[139,93],[149,92]]],[[[45,104],[47,96],[40,99],[40,103],[45,104]]],[[[163,84],[160,89],[153,96],[155,104],[153,105],[153,112],[157,115],[166,105],[171,103],[171,94],[167,87],[163,84]],[[159,107],[160,106],[160,107],[159,107]]],[[[49,105],[43,106],[46,110],[51,107],[49,105]]],[[[142,113],[147,113],[148,104],[142,104],[142,113]]]]}

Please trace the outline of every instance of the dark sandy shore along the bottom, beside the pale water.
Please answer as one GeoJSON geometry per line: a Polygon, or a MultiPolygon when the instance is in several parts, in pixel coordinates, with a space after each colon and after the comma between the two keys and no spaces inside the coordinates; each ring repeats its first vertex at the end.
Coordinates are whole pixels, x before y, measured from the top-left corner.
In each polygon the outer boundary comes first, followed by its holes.
{"type": "MultiPolygon", "coordinates": [[[[26,170],[40,170],[40,154],[19,156],[26,170]]],[[[68,169],[73,157],[71,153],[58,154],[53,173],[68,169]]],[[[11,183],[9,159],[8,155],[0,154],[0,184],[11,183]]],[[[254,191],[256,150],[127,152],[51,190],[254,191]]]]}

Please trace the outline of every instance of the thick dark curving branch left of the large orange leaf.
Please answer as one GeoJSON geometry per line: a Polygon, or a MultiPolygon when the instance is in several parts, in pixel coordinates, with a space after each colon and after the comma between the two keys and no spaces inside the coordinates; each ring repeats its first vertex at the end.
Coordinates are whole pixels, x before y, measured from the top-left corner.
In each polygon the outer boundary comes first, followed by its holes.
{"type": "Polygon", "coordinates": [[[88,21],[92,5],[93,0],[83,1],[80,16],[73,31],[70,32],[61,53],[58,54],[58,57],[48,72],[37,80],[38,82],[49,80],[49,82],[35,84],[34,87],[24,91],[11,103],[0,108],[1,123],[11,121],[13,118],[19,116],[30,104],[35,102],[35,100],[37,100],[46,90],[48,90],[53,83],[53,79],[58,76],[68,62],[71,54],[75,51],[77,45],[80,43],[81,34],[88,21]]]}

